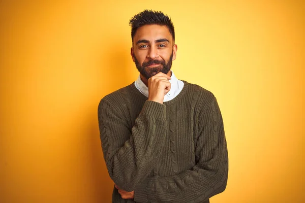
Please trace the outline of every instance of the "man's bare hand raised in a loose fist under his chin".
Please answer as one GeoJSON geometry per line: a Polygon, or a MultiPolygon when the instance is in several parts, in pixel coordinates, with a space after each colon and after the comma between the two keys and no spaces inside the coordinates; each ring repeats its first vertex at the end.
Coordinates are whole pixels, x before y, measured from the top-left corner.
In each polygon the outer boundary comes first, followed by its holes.
{"type": "Polygon", "coordinates": [[[159,72],[148,79],[148,100],[163,104],[164,95],[169,92],[171,84],[168,80],[171,77],[159,72]]]}

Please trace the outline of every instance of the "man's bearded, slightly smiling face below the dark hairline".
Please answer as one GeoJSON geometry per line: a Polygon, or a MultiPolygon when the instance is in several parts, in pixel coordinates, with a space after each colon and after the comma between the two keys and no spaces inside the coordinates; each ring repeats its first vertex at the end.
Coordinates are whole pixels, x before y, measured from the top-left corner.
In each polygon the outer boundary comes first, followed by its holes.
{"type": "Polygon", "coordinates": [[[146,79],[159,72],[167,74],[176,59],[177,45],[167,26],[144,25],[133,38],[131,56],[138,71],[146,79]]]}

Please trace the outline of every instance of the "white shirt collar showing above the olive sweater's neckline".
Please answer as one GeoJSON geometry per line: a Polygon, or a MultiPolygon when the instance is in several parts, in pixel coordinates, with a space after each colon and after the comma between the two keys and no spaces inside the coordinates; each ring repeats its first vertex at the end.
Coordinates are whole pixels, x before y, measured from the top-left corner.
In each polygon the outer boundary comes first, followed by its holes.
{"type": "MultiPolygon", "coordinates": [[[[171,79],[169,80],[169,82],[171,83],[171,87],[169,92],[167,92],[167,94],[164,96],[163,102],[175,98],[184,87],[184,82],[178,80],[174,75],[174,72],[171,71],[171,73],[171,79]]],[[[135,86],[142,94],[148,97],[148,87],[143,83],[140,76],[135,81],[135,86]]]]}

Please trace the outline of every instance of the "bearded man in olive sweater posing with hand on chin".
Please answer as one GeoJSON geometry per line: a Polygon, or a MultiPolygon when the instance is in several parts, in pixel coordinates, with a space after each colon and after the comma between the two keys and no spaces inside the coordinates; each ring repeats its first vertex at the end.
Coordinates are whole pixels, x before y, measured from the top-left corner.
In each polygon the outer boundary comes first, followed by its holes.
{"type": "Polygon", "coordinates": [[[170,71],[177,45],[168,16],[145,10],[130,25],[140,76],[98,108],[112,202],[209,202],[228,177],[217,100],[170,71]]]}

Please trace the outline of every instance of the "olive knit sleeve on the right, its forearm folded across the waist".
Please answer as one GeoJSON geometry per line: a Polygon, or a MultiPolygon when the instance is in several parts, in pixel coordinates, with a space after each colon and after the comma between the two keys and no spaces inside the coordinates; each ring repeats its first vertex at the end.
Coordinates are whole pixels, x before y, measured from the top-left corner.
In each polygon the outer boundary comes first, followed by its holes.
{"type": "Polygon", "coordinates": [[[195,145],[196,165],[174,176],[144,179],[135,189],[136,202],[203,202],[225,190],[228,153],[215,97],[200,118],[195,145]]]}

